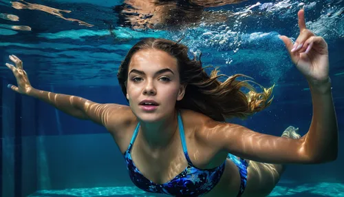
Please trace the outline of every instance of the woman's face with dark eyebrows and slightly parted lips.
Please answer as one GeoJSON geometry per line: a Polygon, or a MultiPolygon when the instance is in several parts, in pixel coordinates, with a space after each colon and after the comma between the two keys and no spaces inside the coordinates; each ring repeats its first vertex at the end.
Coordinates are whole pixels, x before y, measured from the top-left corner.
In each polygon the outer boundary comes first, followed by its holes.
{"type": "Polygon", "coordinates": [[[177,59],[162,50],[140,50],[131,57],[128,70],[127,99],[133,113],[145,122],[171,116],[185,90],[177,59]]]}

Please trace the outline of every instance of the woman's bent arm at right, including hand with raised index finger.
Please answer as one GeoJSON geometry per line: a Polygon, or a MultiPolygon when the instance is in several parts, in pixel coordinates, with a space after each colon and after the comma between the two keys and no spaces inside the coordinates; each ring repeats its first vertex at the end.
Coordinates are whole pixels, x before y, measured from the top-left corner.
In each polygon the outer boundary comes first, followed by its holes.
{"type": "Polygon", "coordinates": [[[264,163],[325,163],[338,156],[338,123],[331,92],[327,43],[305,28],[298,13],[300,34],[295,43],[281,37],[292,62],[305,76],[312,94],[310,128],[299,139],[259,134],[239,125],[208,121],[200,138],[218,152],[230,152],[264,163]],[[203,137],[202,137],[203,136],[203,137]]]}

